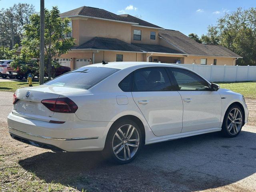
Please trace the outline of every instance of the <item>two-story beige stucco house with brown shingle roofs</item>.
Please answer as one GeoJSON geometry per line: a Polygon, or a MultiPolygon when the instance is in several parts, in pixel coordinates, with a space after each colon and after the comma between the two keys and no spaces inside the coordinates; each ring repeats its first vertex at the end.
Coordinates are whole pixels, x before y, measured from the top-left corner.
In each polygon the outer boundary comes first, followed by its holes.
{"type": "Polygon", "coordinates": [[[76,46],[63,54],[62,65],[78,68],[114,61],[235,65],[238,54],[220,45],[200,44],[134,16],[83,6],[60,14],[71,19],[76,46]]]}

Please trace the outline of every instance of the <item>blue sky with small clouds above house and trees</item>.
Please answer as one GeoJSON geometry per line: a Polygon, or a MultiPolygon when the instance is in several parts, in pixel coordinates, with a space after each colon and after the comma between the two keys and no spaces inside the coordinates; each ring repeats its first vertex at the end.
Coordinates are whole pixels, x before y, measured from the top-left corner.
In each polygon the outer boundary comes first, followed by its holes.
{"type": "MultiPolygon", "coordinates": [[[[14,3],[30,3],[40,10],[40,0],[0,0],[0,8],[14,3]]],[[[207,26],[215,24],[225,12],[238,7],[256,7],[255,0],[45,0],[45,7],[58,6],[66,12],[81,6],[102,8],[115,14],[142,16],[143,20],[166,29],[179,30],[188,35],[207,33],[207,26]],[[156,3],[157,2],[157,3],[156,3]]]]}

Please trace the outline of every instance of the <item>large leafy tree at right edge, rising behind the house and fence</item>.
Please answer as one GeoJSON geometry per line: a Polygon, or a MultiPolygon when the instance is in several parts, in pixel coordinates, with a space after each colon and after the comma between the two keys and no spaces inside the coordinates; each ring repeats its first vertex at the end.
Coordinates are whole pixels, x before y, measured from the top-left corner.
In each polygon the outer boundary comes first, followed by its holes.
{"type": "Polygon", "coordinates": [[[207,36],[241,55],[243,58],[237,64],[256,65],[256,8],[238,8],[225,14],[215,26],[208,27],[207,36]]]}

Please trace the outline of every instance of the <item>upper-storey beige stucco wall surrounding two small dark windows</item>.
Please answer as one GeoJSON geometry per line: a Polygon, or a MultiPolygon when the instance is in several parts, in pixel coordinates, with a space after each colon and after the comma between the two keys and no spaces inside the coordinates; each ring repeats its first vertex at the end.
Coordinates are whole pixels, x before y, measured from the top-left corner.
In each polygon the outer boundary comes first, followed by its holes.
{"type": "Polygon", "coordinates": [[[159,44],[159,37],[158,37],[158,29],[153,28],[146,28],[146,27],[138,27],[138,26],[132,26],[131,28],[131,42],[132,43],[142,43],[142,44],[159,44]],[[141,40],[133,40],[133,30],[141,30],[141,40]],[[156,39],[150,39],[150,32],[156,32],[156,39]]]}

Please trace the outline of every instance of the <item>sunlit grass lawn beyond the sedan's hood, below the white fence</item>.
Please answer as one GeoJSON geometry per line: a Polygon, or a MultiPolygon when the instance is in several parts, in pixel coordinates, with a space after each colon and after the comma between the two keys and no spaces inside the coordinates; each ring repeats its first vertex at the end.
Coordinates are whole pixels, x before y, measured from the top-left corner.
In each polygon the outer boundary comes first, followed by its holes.
{"type": "Polygon", "coordinates": [[[220,88],[230,89],[244,95],[245,98],[256,99],[256,81],[254,82],[216,82],[220,88]]]}

